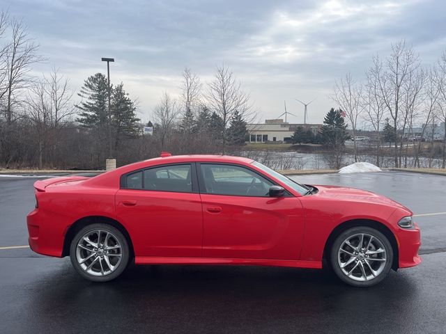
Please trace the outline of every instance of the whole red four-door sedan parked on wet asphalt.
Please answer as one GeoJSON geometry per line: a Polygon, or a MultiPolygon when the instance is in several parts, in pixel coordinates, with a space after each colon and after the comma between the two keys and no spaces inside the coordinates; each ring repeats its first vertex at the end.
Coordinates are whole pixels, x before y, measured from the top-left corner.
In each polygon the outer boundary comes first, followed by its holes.
{"type": "MultiPolygon", "coordinates": [[[[128,264],[254,264],[332,268],[366,287],[413,267],[420,230],[389,198],[298,184],[240,157],[163,157],[95,177],[38,181],[29,245],[70,256],[84,278],[128,264]]],[[[167,155],[167,157],[165,156],[167,155]]]]}

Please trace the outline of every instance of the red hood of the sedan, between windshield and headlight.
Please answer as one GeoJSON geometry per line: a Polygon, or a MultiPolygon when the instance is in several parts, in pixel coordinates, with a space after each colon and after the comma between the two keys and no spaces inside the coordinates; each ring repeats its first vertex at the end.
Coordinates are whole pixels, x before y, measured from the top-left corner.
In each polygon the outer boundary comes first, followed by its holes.
{"type": "Polygon", "coordinates": [[[412,213],[410,209],[401,205],[399,202],[391,200],[377,193],[372,193],[371,191],[347,188],[344,186],[315,186],[318,192],[314,196],[321,198],[335,199],[335,200],[346,200],[351,202],[374,202],[381,205],[389,205],[391,207],[399,207],[405,209],[412,213]]]}

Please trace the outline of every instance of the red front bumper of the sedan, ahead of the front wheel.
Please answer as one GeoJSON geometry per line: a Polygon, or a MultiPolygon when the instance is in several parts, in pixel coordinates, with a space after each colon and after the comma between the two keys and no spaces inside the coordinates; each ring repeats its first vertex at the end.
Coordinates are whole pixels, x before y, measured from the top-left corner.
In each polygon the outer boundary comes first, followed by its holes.
{"type": "Polygon", "coordinates": [[[421,263],[418,249],[421,246],[421,234],[418,225],[413,230],[400,229],[397,235],[399,246],[399,268],[414,267],[421,263]]]}

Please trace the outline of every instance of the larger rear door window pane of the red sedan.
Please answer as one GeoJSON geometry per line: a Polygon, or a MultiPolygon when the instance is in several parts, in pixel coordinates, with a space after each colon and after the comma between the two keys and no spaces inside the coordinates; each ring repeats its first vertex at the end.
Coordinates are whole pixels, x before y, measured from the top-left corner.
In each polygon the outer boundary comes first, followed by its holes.
{"type": "Polygon", "coordinates": [[[192,193],[190,165],[162,166],[144,170],[144,189],[192,193]]]}

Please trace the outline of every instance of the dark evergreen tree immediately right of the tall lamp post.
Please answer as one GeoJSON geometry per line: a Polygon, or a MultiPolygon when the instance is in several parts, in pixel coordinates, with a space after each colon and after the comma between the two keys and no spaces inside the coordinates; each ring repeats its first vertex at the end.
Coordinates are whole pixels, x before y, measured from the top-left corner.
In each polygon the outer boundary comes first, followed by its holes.
{"type": "Polygon", "coordinates": [[[123,83],[113,88],[110,109],[116,149],[121,138],[137,136],[141,131],[136,107],[125,92],[123,83]]]}

